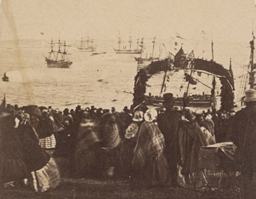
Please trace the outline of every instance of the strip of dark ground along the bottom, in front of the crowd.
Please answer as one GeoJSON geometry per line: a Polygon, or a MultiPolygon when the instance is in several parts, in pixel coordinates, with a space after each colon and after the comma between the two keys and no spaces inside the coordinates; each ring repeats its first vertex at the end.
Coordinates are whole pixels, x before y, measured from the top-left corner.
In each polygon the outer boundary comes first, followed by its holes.
{"type": "MultiPolygon", "coordinates": [[[[62,179],[61,184],[50,191],[36,193],[25,188],[0,190],[1,199],[196,199],[194,190],[185,188],[152,188],[131,191],[127,181],[62,179]]],[[[203,197],[204,198],[204,197],[203,197]]],[[[237,198],[214,197],[205,198],[237,198]]]]}

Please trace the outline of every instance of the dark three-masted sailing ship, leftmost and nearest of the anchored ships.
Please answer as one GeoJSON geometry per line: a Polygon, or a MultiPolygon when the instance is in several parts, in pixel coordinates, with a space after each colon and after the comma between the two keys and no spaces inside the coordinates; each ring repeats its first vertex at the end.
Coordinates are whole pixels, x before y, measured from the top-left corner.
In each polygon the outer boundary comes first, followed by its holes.
{"type": "Polygon", "coordinates": [[[47,63],[47,67],[49,68],[69,68],[73,62],[68,60],[68,54],[66,47],[66,41],[60,42],[60,39],[57,43],[53,43],[53,39],[51,41],[51,52],[49,52],[48,57],[45,57],[45,61],[47,63]],[[54,51],[53,47],[54,45],[58,45],[58,51],[54,51]],[[63,48],[63,51],[62,49],[63,48]]]}

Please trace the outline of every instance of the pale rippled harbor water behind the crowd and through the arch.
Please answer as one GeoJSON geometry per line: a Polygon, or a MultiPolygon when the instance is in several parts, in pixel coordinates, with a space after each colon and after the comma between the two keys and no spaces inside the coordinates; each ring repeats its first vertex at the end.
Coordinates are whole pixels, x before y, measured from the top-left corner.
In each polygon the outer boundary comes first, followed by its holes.
{"type": "MultiPolygon", "coordinates": [[[[0,99],[5,94],[9,104],[36,104],[61,110],[66,107],[74,109],[77,105],[83,108],[95,105],[103,109],[115,106],[121,111],[125,105],[129,107],[132,104],[137,62],[131,55],[115,54],[112,48],[104,47],[100,51],[106,51],[105,54],[91,56],[90,52],[80,52],[72,46],[68,49],[73,62],[70,68],[47,68],[43,54],[47,55],[49,50],[49,45],[1,46],[0,75],[6,72],[9,82],[0,81],[0,99]]],[[[233,71],[237,77],[241,68],[233,68],[233,71]]],[[[147,93],[160,94],[162,76],[159,74],[147,82],[147,93]]],[[[180,87],[184,80],[178,74],[174,78],[167,91],[175,96],[181,95],[180,87]]],[[[208,76],[202,78],[209,80],[207,84],[211,86],[208,76]]],[[[209,88],[199,83],[194,87],[191,87],[191,92],[210,93],[209,88]]]]}

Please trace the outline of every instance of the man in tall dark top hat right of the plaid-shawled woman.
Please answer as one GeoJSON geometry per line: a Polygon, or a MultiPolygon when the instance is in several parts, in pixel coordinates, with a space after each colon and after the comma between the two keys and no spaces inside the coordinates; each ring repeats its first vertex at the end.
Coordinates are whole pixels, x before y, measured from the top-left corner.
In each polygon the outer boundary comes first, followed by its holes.
{"type": "Polygon", "coordinates": [[[166,93],[163,95],[163,107],[165,109],[164,113],[159,114],[157,118],[157,123],[160,131],[165,138],[166,145],[166,157],[169,163],[172,185],[175,186],[176,179],[176,164],[171,164],[173,162],[173,150],[172,147],[175,143],[172,143],[175,132],[178,128],[179,122],[181,120],[181,115],[173,110],[174,99],[172,93],[166,93]]]}

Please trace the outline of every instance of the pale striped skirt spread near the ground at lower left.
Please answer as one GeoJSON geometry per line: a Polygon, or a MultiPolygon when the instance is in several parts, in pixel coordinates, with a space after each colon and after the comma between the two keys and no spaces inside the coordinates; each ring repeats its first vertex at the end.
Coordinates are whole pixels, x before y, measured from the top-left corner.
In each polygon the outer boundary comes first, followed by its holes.
{"type": "Polygon", "coordinates": [[[43,168],[32,171],[31,179],[28,180],[36,192],[45,192],[50,188],[56,188],[60,183],[60,175],[54,159],[51,157],[43,168]]]}

